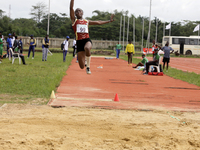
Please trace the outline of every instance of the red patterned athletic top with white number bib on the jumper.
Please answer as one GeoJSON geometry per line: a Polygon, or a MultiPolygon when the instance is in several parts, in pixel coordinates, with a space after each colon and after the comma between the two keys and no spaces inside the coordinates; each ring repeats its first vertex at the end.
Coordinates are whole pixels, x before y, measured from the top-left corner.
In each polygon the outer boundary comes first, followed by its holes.
{"type": "Polygon", "coordinates": [[[89,38],[88,30],[89,21],[85,19],[76,19],[72,28],[76,34],[76,40],[83,40],[89,38]]]}

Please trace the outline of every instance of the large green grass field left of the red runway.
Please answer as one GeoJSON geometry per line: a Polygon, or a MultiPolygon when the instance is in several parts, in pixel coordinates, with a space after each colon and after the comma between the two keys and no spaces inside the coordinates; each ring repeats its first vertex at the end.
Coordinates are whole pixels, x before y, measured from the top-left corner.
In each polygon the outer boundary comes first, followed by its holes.
{"type": "Polygon", "coordinates": [[[19,65],[18,59],[14,64],[3,59],[0,64],[0,95],[3,97],[0,103],[48,99],[51,91],[56,90],[66,75],[72,55],[67,56],[65,63],[62,59],[62,53],[54,53],[43,62],[42,53],[39,52],[35,53],[35,59],[25,56],[27,65],[19,65]]]}

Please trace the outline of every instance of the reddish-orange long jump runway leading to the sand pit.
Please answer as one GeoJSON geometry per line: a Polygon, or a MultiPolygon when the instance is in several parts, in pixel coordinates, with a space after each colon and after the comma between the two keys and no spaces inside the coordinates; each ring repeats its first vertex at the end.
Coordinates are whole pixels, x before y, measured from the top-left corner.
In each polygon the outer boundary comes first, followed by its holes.
{"type": "Polygon", "coordinates": [[[76,106],[107,109],[200,110],[200,87],[166,75],[142,75],[124,60],[92,57],[91,75],[75,59],[67,70],[53,107],[76,106]],[[103,68],[99,66],[103,65],[103,68]],[[119,102],[114,101],[118,94],[119,102]]]}

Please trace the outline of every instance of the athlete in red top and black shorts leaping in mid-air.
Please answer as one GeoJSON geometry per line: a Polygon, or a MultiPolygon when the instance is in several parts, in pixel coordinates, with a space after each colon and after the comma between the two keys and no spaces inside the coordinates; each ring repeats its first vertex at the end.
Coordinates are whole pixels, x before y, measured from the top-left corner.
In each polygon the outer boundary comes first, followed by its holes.
{"type": "Polygon", "coordinates": [[[78,62],[81,69],[85,67],[85,56],[86,56],[86,72],[87,74],[91,74],[90,71],[90,50],[92,48],[92,41],[89,38],[89,25],[101,25],[113,22],[114,15],[112,14],[109,21],[91,21],[85,20],[82,18],[83,10],[77,8],[74,12],[74,0],[70,2],[70,18],[72,21],[72,28],[76,35],[77,40],[77,53],[78,53],[78,62]]]}

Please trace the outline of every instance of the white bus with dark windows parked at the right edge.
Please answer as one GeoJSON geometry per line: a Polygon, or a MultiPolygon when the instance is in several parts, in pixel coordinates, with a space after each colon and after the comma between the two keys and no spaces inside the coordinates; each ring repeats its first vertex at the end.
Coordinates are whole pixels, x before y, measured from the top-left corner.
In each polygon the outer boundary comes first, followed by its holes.
{"type": "Polygon", "coordinates": [[[162,46],[169,41],[169,46],[180,54],[200,55],[200,38],[198,36],[164,36],[162,46]]]}

